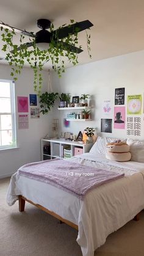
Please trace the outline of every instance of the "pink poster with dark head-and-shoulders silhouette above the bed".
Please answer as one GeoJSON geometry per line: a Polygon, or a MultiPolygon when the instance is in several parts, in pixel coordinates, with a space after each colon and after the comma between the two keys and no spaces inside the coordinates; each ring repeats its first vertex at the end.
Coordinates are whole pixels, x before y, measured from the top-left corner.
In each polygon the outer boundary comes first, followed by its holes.
{"type": "Polygon", "coordinates": [[[125,128],[125,107],[114,107],[114,128],[125,128]]]}

